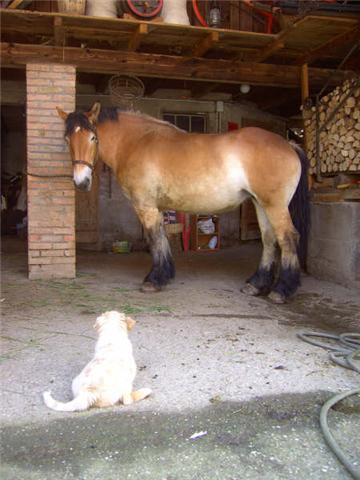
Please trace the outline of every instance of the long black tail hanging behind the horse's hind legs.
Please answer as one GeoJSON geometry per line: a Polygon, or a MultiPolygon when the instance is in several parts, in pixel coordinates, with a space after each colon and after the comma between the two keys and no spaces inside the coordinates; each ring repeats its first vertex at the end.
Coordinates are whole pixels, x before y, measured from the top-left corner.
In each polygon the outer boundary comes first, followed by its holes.
{"type": "Polygon", "coordinates": [[[300,234],[298,244],[300,266],[306,271],[308,235],[310,230],[310,200],[308,186],[309,161],[302,148],[292,142],[291,146],[299,156],[301,163],[301,176],[295,194],[291,199],[289,211],[293,224],[300,234]]]}

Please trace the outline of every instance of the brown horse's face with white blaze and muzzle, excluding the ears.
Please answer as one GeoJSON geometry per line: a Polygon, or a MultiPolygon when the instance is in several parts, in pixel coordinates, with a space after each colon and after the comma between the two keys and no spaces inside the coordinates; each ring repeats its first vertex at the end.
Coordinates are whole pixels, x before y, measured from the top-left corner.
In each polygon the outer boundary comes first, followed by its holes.
{"type": "Polygon", "coordinates": [[[80,190],[89,191],[92,182],[91,166],[95,164],[96,157],[96,135],[77,126],[70,137],[69,145],[74,162],[74,183],[80,190]]]}

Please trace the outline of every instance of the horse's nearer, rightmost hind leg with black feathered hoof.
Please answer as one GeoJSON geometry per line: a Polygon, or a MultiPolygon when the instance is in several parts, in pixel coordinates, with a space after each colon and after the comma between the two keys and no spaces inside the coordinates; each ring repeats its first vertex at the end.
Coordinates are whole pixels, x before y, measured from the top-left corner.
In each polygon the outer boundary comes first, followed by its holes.
{"type": "Polygon", "coordinates": [[[300,266],[297,255],[299,234],[291,221],[287,207],[268,207],[265,211],[281,250],[279,276],[269,298],[275,303],[284,303],[300,285],[300,266]]]}

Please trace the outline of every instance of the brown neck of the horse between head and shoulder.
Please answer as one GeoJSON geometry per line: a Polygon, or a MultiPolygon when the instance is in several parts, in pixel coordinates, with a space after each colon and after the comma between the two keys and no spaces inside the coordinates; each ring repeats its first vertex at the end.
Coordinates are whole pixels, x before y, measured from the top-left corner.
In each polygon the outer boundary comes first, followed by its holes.
{"type": "Polygon", "coordinates": [[[124,115],[118,122],[104,122],[97,126],[99,156],[112,170],[117,171],[122,160],[133,151],[142,136],[136,118],[124,115]]]}

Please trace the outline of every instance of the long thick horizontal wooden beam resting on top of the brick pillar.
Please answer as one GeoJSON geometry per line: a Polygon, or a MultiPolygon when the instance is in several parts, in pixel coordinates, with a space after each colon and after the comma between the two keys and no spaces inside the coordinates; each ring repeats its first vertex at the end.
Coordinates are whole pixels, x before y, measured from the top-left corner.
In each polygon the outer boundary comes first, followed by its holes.
{"type": "MultiPolygon", "coordinates": [[[[299,87],[301,77],[301,69],[298,66],[241,63],[115,50],[2,42],[0,53],[3,66],[24,65],[31,62],[65,63],[85,72],[131,73],[145,77],[235,84],[246,82],[284,88],[299,87]]],[[[331,84],[336,85],[341,83],[348,74],[347,71],[309,68],[309,82],[312,86],[322,86],[331,76],[331,84]]]]}

